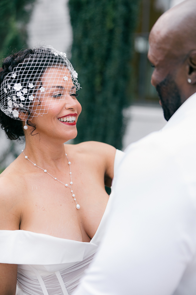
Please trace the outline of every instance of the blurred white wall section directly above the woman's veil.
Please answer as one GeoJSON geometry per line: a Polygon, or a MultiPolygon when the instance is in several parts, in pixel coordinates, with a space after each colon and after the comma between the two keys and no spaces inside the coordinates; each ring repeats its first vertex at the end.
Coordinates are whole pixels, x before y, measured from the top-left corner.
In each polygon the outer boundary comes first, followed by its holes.
{"type": "Polygon", "coordinates": [[[69,56],[72,44],[68,0],[37,0],[28,25],[28,44],[52,45],[69,56]]]}

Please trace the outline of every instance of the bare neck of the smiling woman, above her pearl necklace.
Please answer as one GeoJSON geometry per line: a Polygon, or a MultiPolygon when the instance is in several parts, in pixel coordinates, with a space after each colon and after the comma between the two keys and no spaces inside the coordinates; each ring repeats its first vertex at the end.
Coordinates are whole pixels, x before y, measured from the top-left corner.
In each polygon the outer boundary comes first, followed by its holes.
{"type": "Polygon", "coordinates": [[[61,169],[67,162],[62,140],[48,139],[44,136],[28,136],[24,150],[25,155],[37,165],[61,169]]]}

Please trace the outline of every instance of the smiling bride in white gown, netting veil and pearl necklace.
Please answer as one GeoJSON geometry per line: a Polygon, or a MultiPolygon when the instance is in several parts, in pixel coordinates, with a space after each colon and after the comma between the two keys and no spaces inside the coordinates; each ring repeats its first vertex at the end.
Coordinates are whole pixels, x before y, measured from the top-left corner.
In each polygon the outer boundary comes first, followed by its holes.
{"type": "Polygon", "coordinates": [[[104,234],[105,185],[123,152],[64,144],[77,135],[77,77],[52,46],[14,53],[0,69],[1,128],[26,142],[0,175],[1,295],[72,294],[104,234]]]}

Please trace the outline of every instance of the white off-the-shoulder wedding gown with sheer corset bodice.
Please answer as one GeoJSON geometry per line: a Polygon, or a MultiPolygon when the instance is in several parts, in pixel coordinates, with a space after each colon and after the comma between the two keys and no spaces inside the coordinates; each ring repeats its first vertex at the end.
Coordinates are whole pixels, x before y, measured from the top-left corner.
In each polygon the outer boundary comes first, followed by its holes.
{"type": "MultiPolygon", "coordinates": [[[[123,156],[116,151],[114,173],[123,156]]],[[[26,230],[0,230],[0,263],[18,264],[16,295],[72,294],[98,249],[111,200],[112,193],[89,243],[26,230]]]]}

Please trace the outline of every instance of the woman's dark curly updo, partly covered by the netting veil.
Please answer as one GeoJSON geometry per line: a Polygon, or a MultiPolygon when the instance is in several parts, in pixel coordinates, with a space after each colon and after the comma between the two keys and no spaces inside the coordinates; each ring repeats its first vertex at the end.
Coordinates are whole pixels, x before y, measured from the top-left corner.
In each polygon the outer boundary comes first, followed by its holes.
{"type": "MultiPolygon", "coordinates": [[[[48,55],[48,48],[43,50],[43,47],[35,48],[35,49],[25,49],[21,50],[16,53],[12,53],[11,55],[7,56],[3,63],[2,67],[0,68],[0,87],[4,81],[4,78],[7,74],[12,73],[14,68],[20,66],[22,70],[22,64],[26,63],[26,66],[29,67],[29,75],[24,74],[22,76],[22,81],[25,84],[28,82],[35,82],[39,81],[41,83],[41,76],[43,75],[44,71],[48,66],[52,66],[53,64],[61,64],[62,60],[58,58],[58,56],[48,55]],[[40,55],[40,52],[42,54],[40,55]]],[[[33,90],[32,90],[33,91],[33,90]]],[[[0,97],[0,104],[1,104],[2,97],[0,97]]],[[[30,115],[30,112],[27,112],[30,115]]],[[[10,140],[21,140],[24,138],[24,129],[21,120],[16,120],[7,116],[4,112],[0,109],[0,124],[1,128],[5,131],[6,136],[10,140]]],[[[27,120],[27,125],[32,126],[33,130],[32,133],[36,130],[36,125],[27,120]]]]}

